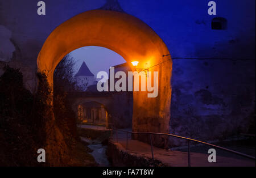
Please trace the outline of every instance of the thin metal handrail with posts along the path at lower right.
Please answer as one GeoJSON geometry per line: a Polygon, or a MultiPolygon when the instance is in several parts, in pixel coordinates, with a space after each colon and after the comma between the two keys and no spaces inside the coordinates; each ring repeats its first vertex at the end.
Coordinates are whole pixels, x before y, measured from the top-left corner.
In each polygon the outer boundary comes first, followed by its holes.
{"type": "MultiPolygon", "coordinates": [[[[113,128],[114,129],[114,128],[113,128]]],[[[247,154],[243,154],[242,152],[238,152],[238,151],[234,151],[234,150],[230,150],[230,149],[226,149],[224,147],[221,147],[221,146],[217,146],[217,145],[213,145],[213,144],[210,144],[210,143],[207,143],[207,142],[202,142],[202,141],[199,141],[199,140],[196,140],[196,139],[192,139],[192,138],[187,138],[187,137],[181,137],[179,135],[174,135],[174,134],[167,134],[167,133],[155,133],[155,132],[130,132],[130,131],[127,131],[127,130],[121,130],[121,129],[114,129],[114,130],[118,130],[120,132],[126,132],[126,150],[128,149],[128,134],[127,133],[131,133],[131,134],[149,134],[150,135],[150,145],[151,145],[151,154],[152,154],[152,159],[154,160],[154,152],[153,152],[153,146],[152,146],[152,135],[167,135],[167,136],[171,136],[171,137],[176,137],[176,138],[181,138],[181,139],[186,139],[188,141],[188,166],[190,167],[191,166],[191,156],[190,156],[190,142],[193,141],[193,142],[198,142],[198,143],[201,143],[203,145],[208,145],[208,146],[212,146],[212,147],[215,147],[217,149],[221,149],[221,150],[224,150],[224,151],[228,151],[228,152],[232,152],[234,154],[237,154],[237,155],[240,155],[240,156],[243,156],[243,157],[246,157],[246,158],[249,158],[249,159],[254,159],[255,160],[255,157],[254,156],[251,156],[251,155],[247,155],[247,154]]],[[[116,132],[116,137],[117,137],[117,132],[116,132]]],[[[118,137],[117,137],[117,142],[118,142],[118,137]]]]}

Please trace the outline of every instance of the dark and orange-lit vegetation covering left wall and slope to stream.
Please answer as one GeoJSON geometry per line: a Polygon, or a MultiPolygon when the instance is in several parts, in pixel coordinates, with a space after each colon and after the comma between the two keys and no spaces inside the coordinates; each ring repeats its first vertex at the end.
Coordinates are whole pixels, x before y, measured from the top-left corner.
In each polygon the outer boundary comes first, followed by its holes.
{"type": "Polygon", "coordinates": [[[76,123],[72,119],[75,117],[61,90],[55,91],[55,104],[52,107],[52,90],[46,74],[36,74],[38,90],[32,95],[24,87],[19,69],[5,66],[4,71],[0,77],[0,166],[95,166],[85,146],[75,139],[76,130],[72,130],[76,123]],[[53,108],[55,120],[52,118],[53,108]],[[53,127],[48,128],[47,123],[52,121],[55,122],[53,127]],[[63,140],[53,135],[56,139],[52,140],[56,141],[52,145],[52,150],[56,150],[53,158],[60,162],[47,159],[46,163],[38,163],[37,150],[46,148],[49,139],[47,135],[51,134],[47,132],[54,134],[56,128],[60,129],[68,147],[56,145],[63,140]],[[63,151],[60,153],[59,149],[63,151]]]}

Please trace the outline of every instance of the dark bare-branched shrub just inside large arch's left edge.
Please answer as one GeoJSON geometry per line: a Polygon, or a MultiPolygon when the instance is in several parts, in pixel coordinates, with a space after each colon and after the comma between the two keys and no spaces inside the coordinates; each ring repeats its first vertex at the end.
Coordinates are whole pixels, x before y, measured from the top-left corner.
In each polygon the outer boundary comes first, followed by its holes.
{"type": "Polygon", "coordinates": [[[65,138],[77,137],[76,115],[73,112],[68,97],[70,91],[76,90],[76,83],[73,79],[73,66],[75,63],[72,58],[65,56],[56,67],[53,81],[53,106],[55,120],[59,128],[63,131],[65,138]]]}

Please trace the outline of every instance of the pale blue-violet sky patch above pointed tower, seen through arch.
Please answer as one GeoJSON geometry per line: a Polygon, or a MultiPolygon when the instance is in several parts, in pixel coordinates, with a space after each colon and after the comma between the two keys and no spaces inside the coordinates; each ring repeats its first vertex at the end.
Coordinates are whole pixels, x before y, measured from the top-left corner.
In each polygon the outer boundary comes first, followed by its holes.
{"type": "Polygon", "coordinates": [[[75,74],[82,65],[82,62],[85,62],[95,77],[97,77],[99,71],[106,71],[108,73],[110,66],[126,62],[122,56],[113,50],[100,46],[85,46],[73,50],[69,54],[74,58],[76,63],[75,74]]]}

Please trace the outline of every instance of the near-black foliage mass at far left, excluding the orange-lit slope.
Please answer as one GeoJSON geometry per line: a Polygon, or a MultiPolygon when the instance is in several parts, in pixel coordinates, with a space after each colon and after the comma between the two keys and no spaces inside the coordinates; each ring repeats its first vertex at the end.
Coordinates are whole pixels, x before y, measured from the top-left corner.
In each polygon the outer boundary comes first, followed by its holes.
{"type": "Polygon", "coordinates": [[[50,89],[46,75],[38,74],[38,92],[23,86],[18,69],[5,66],[0,77],[0,166],[35,166],[36,151],[46,139],[45,111],[50,89]]]}

